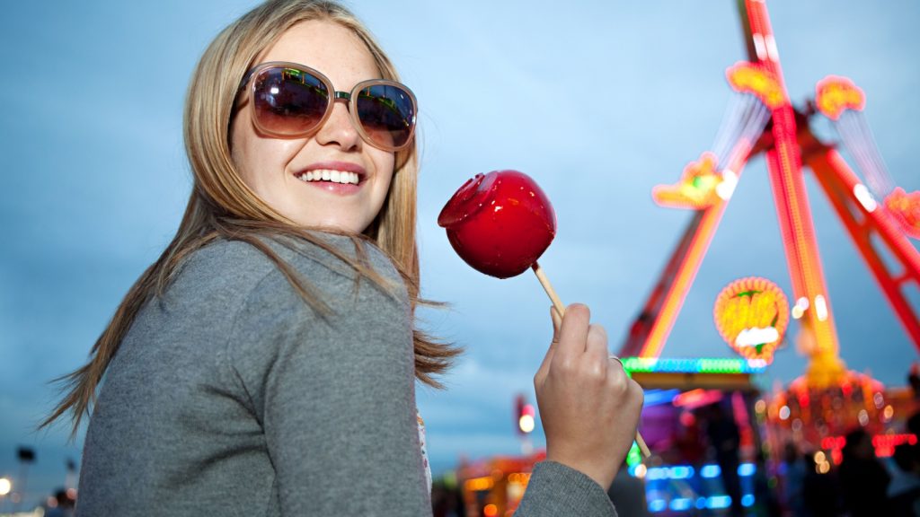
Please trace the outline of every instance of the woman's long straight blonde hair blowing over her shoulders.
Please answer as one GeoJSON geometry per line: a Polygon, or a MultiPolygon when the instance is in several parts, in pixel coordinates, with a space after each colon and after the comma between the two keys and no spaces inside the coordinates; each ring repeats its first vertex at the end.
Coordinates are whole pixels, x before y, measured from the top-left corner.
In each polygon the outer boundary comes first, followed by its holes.
{"type": "MultiPolygon", "coordinates": [[[[299,228],[273,210],[243,181],[236,171],[229,145],[230,121],[239,82],[254,65],[259,53],[268,49],[282,33],[307,20],[328,20],[351,29],[367,45],[382,78],[398,80],[374,36],[346,8],[329,0],[270,0],[249,11],[224,29],[201,56],[189,86],[185,103],[184,137],[194,184],[189,204],[176,236],[163,254],[134,283],[125,295],[109,326],[90,351],[90,359],[73,373],[55,379],[64,396],[52,415],[40,427],[70,411],[75,436],[81,419],[88,415],[96,389],[118,351],[121,339],[134,317],[153,296],[161,294],[178,266],[195,250],[218,238],[234,239],[259,248],[282,271],[293,289],[320,313],[328,312],[319,293],[308,281],[280,259],[260,236],[297,236],[349,264],[358,273],[381,285],[386,282],[367,263],[359,246],[370,240],[393,260],[408,288],[413,309],[425,303],[419,298],[419,257],[416,246],[416,191],[419,172],[416,144],[396,156],[396,170],[381,212],[362,236],[351,236],[358,251],[351,259],[323,240],[299,228]]],[[[413,324],[416,378],[442,387],[433,375],[443,373],[461,350],[427,336],[413,324]]]]}

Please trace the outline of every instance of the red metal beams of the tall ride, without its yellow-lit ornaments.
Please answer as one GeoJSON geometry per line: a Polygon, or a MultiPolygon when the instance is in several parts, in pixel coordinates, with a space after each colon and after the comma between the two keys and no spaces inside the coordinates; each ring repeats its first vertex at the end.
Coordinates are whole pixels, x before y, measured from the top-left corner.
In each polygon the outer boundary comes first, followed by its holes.
{"type": "MultiPolygon", "coordinates": [[[[775,97],[765,102],[771,109],[772,125],[768,126],[769,129],[765,130],[753,149],[752,144],[740,142],[739,145],[747,145],[748,149],[731,154],[738,156],[738,163],[725,164],[724,168],[730,168],[740,178],[747,160],[752,155],[764,152],[794,292],[793,304],[796,304],[796,310],[793,317],[800,319],[802,329],[812,341],[806,378],[810,385],[834,385],[845,376],[846,370],[839,358],[834,313],[824,281],[805,190],[800,149],[805,150],[807,165],[814,171],[918,350],[920,321],[904,295],[903,288],[910,282],[920,287],[920,254],[903,236],[882,205],[878,204],[869,211],[858,201],[854,190],[859,183],[856,175],[834,150],[817,141],[808,129],[807,121],[799,116],[788,101],[765,0],[740,0],[739,6],[742,9],[742,28],[750,61],[776,79],[782,99],[777,102],[775,97]],[[872,236],[879,237],[903,271],[887,268],[879,252],[872,246],[872,236]]],[[[642,313],[630,329],[620,355],[661,355],[727,205],[728,200],[722,200],[696,212],[642,313]]]]}

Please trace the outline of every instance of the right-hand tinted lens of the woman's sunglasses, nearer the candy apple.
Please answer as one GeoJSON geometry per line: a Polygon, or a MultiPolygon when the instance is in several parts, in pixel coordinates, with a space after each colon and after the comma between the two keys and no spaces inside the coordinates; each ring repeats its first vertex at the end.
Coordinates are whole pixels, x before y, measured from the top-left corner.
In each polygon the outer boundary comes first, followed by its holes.
{"type": "Polygon", "coordinates": [[[368,86],[358,93],[358,120],[374,144],[398,148],[408,143],[415,127],[415,105],[398,86],[368,86]]]}

